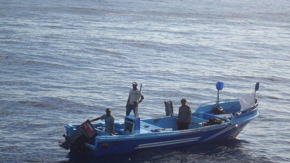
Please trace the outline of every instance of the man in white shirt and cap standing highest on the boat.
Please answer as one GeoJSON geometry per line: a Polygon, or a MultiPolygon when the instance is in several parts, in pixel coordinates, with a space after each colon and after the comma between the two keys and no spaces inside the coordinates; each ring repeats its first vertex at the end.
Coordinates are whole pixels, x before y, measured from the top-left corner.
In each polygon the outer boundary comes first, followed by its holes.
{"type": "MultiPolygon", "coordinates": [[[[131,110],[133,110],[134,115],[135,115],[135,109],[138,102],[138,95],[139,95],[139,90],[137,88],[138,84],[137,82],[133,82],[132,84],[133,84],[133,88],[130,89],[127,104],[126,104],[126,116],[130,115],[131,110]]],[[[139,103],[144,99],[142,92],[140,92],[140,97],[141,99],[139,103]]]]}

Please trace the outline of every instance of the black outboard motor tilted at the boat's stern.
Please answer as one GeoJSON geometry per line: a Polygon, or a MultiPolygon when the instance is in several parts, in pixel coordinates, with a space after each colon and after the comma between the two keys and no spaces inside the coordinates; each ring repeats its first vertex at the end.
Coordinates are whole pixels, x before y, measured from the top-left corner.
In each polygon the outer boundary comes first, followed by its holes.
{"type": "Polygon", "coordinates": [[[94,126],[91,124],[89,120],[84,122],[81,125],[78,125],[76,127],[76,131],[71,135],[62,135],[65,137],[65,142],[60,144],[59,146],[65,149],[72,148],[75,144],[78,143],[87,143],[89,142],[92,137],[96,136],[97,130],[94,128],[94,126]]]}

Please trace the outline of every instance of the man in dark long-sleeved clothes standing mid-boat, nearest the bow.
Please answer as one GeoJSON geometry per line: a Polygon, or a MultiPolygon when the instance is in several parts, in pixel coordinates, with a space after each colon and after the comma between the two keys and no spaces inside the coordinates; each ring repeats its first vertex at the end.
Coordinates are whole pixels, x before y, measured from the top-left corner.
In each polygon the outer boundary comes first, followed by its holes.
{"type": "Polygon", "coordinates": [[[188,125],[191,121],[191,110],[190,107],[186,104],[186,99],[181,99],[182,106],[179,107],[178,110],[178,119],[177,119],[177,125],[178,130],[186,130],[188,129],[188,125]]]}

